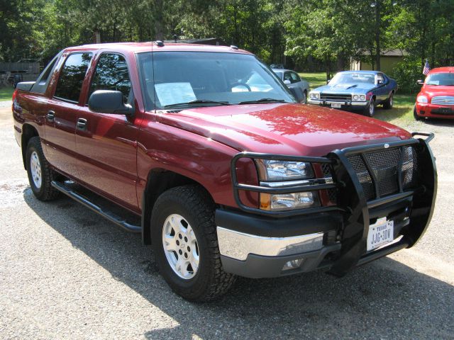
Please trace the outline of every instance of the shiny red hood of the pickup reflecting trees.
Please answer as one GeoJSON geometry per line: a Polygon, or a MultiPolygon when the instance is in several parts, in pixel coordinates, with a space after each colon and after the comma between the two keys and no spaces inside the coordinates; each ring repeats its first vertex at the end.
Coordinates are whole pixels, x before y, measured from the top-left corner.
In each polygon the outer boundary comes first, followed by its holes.
{"type": "Polygon", "coordinates": [[[158,111],[157,121],[237,149],[324,156],[334,149],[392,142],[409,132],[381,120],[306,104],[267,103],[211,106],[175,113],[158,111]]]}

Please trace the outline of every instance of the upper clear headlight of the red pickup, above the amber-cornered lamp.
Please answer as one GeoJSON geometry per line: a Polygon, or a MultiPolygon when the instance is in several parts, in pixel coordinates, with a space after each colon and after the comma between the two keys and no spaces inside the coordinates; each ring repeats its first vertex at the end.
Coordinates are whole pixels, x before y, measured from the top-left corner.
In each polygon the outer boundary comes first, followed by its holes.
{"type": "Polygon", "coordinates": [[[312,166],[307,162],[274,161],[255,159],[260,181],[289,181],[311,179],[314,177],[312,166]]]}

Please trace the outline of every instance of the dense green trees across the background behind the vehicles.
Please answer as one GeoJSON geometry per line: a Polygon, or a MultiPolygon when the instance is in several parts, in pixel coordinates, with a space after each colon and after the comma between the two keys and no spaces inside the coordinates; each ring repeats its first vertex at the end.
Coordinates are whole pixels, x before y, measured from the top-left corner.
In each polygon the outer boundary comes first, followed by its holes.
{"type": "Polygon", "coordinates": [[[0,0],[0,61],[50,60],[70,45],[216,37],[265,62],[326,75],[350,57],[406,50],[454,62],[453,0],[0,0]],[[367,52],[365,55],[364,52],[367,52]],[[312,67],[311,67],[312,65],[312,67]]]}

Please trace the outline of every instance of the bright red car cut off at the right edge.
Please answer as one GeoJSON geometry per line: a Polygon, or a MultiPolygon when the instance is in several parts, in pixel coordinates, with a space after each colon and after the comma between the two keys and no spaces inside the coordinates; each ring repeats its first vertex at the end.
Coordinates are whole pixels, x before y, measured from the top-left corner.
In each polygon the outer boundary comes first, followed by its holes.
{"type": "Polygon", "coordinates": [[[428,72],[416,96],[414,119],[454,118],[454,67],[438,67],[428,72]]]}

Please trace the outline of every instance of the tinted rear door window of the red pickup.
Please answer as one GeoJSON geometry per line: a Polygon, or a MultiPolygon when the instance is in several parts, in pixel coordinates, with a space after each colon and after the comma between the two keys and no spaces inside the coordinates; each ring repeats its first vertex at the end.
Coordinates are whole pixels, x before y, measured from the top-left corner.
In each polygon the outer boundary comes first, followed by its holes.
{"type": "Polygon", "coordinates": [[[79,101],[80,90],[90,60],[92,60],[92,53],[73,53],[66,58],[58,77],[55,97],[76,103],[79,101]]]}

